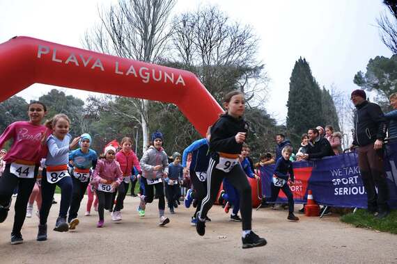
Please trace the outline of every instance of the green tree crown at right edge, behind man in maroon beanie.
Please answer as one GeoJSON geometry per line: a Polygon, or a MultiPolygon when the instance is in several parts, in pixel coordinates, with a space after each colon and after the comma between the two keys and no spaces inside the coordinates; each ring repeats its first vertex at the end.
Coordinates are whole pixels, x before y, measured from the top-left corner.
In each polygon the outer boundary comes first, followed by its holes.
{"type": "Polygon", "coordinates": [[[389,96],[397,92],[397,55],[371,58],[366,73],[357,72],[353,82],[364,90],[375,90],[380,95],[378,100],[388,101],[389,96]]]}

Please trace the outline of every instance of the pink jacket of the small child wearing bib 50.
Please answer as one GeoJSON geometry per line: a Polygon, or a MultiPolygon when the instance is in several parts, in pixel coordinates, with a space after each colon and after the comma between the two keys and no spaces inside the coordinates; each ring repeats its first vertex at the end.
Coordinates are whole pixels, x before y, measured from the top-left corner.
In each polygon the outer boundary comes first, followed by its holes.
{"type": "Polygon", "coordinates": [[[107,184],[116,181],[117,185],[123,181],[123,172],[120,170],[120,165],[116,160],[111,162],[107,160],[98,160],[98,163],[93,172],[93,179],[91,184],[95,184],[98,187],[101,179],[107,180],[107,184]]]}

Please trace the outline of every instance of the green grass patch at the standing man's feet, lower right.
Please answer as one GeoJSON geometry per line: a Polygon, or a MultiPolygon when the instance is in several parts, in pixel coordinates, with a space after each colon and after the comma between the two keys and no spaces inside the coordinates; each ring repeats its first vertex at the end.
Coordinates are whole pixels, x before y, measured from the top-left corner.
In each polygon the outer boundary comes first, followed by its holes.
{"type": "Polygon", "coordinates": [[[341,221],[356,227],[397,234],[397,210],[392,210],[387,217],[379,220],[366,210],[359,209],[356,213],[343,215],[341,221]]]}

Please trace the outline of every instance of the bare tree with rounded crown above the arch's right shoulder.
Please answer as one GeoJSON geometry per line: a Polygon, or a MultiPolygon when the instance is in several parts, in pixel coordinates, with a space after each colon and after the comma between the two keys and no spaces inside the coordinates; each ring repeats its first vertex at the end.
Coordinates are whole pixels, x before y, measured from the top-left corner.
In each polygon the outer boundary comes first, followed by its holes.
{"type": "Polygon", "coordinates": [[[250,26],[233,23],[208,6],[174,17],[173,30],[174,59],[195,72],[216,99],[238,89],[249,104],[263,107],[268,79],[257,61],[259,41],[250,26]]]}

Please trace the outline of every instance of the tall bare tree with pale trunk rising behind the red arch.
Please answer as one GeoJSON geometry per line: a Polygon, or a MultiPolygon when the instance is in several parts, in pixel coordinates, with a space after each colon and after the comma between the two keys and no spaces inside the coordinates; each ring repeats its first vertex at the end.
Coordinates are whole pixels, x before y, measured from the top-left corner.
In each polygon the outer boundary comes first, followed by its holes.
{"type": "MultiPolygon", "coordinates": [[[[109,10],[98,10],[100,24],[86,31],[83,44],[87,49],[156,63],[168,47],[172,33],[167,22],[175,3],[175,0],[119,0],[109,10]]],[[[145,99],[130,100],[139,110],[140,116],[131,118],[142,128],[143,149],[146,149],[150,104],[145,99]]]]}

